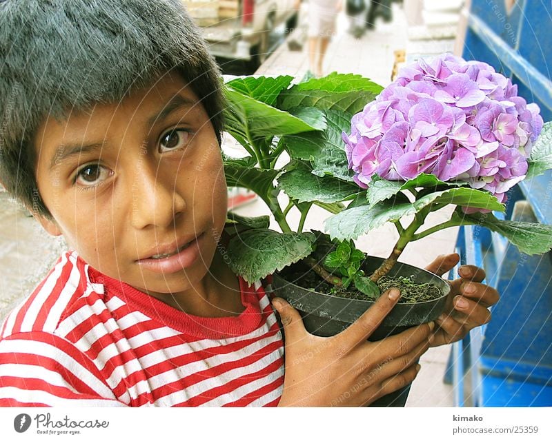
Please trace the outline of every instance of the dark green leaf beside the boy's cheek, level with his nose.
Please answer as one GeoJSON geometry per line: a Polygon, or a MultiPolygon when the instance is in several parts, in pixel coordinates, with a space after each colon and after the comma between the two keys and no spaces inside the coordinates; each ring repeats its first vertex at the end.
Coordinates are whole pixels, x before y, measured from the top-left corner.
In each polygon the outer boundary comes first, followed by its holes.
{"type": "Polygon", "coordinates": [[[273,181],[277,170],[264,170],[255,167],[257,161],[250,156],[246,158],[229,158],[223,155],[224,175],[228,187],[244,187],[265,197],[274,191],[273,181]]]}

